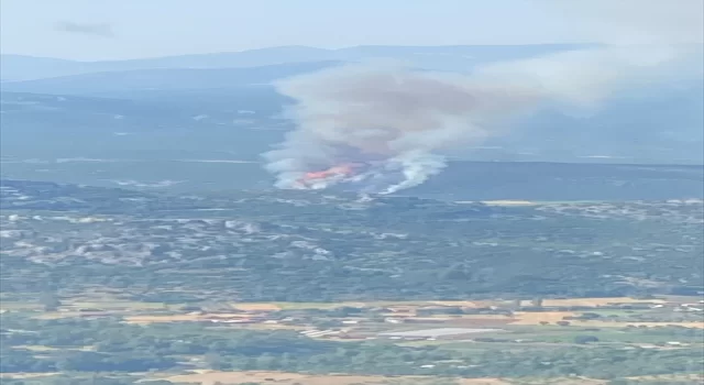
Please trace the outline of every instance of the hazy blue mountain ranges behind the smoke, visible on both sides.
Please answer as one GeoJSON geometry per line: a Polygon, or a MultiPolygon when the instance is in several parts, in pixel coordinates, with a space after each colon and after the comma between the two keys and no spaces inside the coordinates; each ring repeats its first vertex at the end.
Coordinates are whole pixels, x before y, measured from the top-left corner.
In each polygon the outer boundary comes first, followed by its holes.
{"type": "MultiPolygon", "coordinates": [[[[121,62],[3,55],[2,146],[16,150],[44,143],[55,148],[58,140],[80,133],[95,136],[94,142],[86,139],[81,148],[113,145],[119,139],[129,150],[147,147],[147,142],[140,139],[128,145],[132,136],[114,136],[116,132],[158,131],[174,133],[173,138],[175,133],[188,135],[175,141],[174,148],[223,145],[222,151],[255,156],[278,143],[293,127],[282,119],[292,100],[272,86],[277,79],[370,58],[405,61],[418,69],[462,72],[495,61],[586,47],[590,45],[290,46],[121,62]],[[10,62],[14,69],[8,67],[10,62]],[[66,75],[72,72],[77,73],[66,75]],[[18,74],[40,78],[16,80],[18,74]],[[56,138],[42,136],[47,133],[56,138]],[[207,143],[200,141],[207,135],[211,135],[207,143]]],[[[504,135],[449,155],[474,161],[702,164],[702,106],[701,81],[654,84],[614,97],[590,116],[546,109],[514,123],[504,135]]],[[[152,145],[150,151],[163,146],[164,139],[152,145]]],[[[80,150],[66,148],[69,153],[80,150]]]]}

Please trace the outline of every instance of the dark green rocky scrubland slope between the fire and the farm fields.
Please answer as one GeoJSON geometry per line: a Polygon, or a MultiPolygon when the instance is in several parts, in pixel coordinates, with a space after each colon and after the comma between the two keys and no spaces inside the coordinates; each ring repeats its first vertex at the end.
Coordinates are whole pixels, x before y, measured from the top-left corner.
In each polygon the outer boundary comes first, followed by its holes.
{"type": "Polygon", "coordinates": [[[608,297],[695,294],[704,274],[701,199],[502,207],[22,180],[1,191],[6,293],[51,274],[63,289],[151,282],[213,300],[608,297]]]}

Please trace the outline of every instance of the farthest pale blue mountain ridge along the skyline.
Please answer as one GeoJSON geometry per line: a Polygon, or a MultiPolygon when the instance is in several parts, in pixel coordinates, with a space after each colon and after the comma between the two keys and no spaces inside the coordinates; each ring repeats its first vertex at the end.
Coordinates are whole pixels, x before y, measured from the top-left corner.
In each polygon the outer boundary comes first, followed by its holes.
{"type": "Polygon", "coordinates": [[[355,62],[370,58],[404,61],[432,69],[462,70],[481,62],[529,57],[588,46],[593,45],[353,46],[339,50],[280,46],[241,52],[102,62],[0,55],[0,66],[3,80],[14,81],[135,69],[241,68],[309,62],[355,62]]]}

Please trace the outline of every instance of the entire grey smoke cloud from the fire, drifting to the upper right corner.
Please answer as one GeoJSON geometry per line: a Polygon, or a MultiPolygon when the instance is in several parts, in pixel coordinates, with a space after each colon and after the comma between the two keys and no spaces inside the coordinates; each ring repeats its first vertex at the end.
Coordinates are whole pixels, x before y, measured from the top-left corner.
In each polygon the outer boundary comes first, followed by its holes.
{"type": "Polygon", "coordinates": [[[698,19],[691,13],[702,1],[683,0],[676,11],[648,1],[541,3],[563,15],[585,15],[579,26],[597,32],[594,38],[605,44],[493,63],[470,75],[362,64],[277,84],[296,101],[288,113],[297,123],[278,148],[264,155],[277,187],[309,188],[301,183],[308,173],[362,162],[366,172],[331,178],[312,174],[315,188],[382,180],[386,185],[374,193],[395,193],[441,172],[447,150],[505,134],[512,119],[543,106],[590,113],[622,90],[702,77],[701,46],[691,44],[703,32],[702,12],[698,19]],[[635,9],[628,13],[625,6],[635,9]],[[590,14],[606,15],[595,22],[590,14]],[[689,21],[682,23],[678,18],[685,14],[689,21]]]}

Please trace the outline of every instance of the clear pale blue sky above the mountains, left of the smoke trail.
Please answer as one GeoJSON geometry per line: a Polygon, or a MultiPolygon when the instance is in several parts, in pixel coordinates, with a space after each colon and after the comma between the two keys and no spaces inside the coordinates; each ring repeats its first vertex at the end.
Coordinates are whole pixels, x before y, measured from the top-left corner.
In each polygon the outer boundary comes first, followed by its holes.
{"type": "Polygon", "coordinates": [[[95,61],[280,45],[585,41],[541,6],[535,0],[2,0],[0,50],[95,61]]]}

